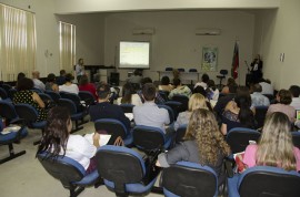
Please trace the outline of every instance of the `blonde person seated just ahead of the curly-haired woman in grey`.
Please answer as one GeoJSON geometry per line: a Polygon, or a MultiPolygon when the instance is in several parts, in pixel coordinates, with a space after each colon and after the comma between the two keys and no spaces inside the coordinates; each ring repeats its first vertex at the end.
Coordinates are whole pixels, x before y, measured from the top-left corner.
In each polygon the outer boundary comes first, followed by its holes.
{"type": "Polygon", "coordinates": [[[179,126],[189,124],[192,111],[197,108],[208,110],[207,100],[200,93],[192,94],[192,96],[189,100],[188,111],[179,113],[177,121],[174,122],[174,129],[177,131],[179,126]]]}

